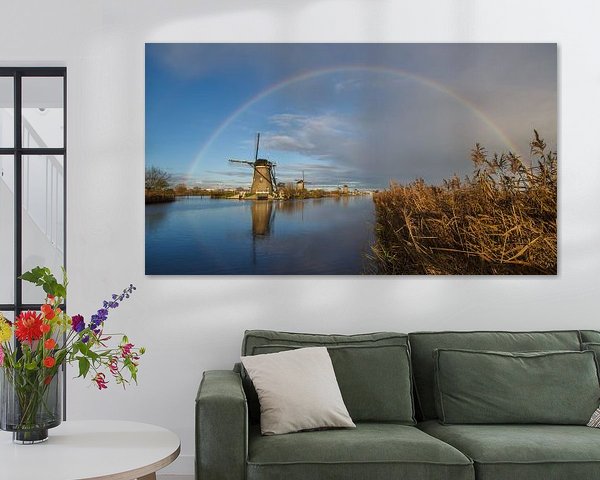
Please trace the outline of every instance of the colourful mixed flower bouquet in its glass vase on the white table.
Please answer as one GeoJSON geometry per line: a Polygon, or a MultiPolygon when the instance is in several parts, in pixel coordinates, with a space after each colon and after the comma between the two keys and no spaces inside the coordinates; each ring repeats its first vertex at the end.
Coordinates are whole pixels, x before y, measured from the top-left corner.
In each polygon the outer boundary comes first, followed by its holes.
{"type": "Polygon", "coordinates": [[[130,381],[137,383],[144,348],[136,348],[123,334],[118,334],[118,343],[111,342],[117,334],[104,331],[111,310],[130,297],[133,285],[103,301],[86,322],[82,315],[70,317],[61,308],[67,297],[64,271],[62,283],[43,267],[21,278],[42,287],[46,300],[39,311],[19,313],[14,323],[0,313],[0,429],[12,431],[17,443],[37,443],[60,424],[65,363],[76,364],[78,376],[89,376],[100,390],[111,377],[125,387],[130,381]]]}

